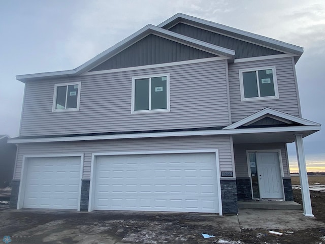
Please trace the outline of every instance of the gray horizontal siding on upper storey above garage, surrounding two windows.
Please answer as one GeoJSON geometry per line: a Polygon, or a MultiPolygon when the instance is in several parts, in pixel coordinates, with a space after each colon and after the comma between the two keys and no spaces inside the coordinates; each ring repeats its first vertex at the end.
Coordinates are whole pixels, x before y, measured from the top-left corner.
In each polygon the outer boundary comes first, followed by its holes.
{"type": "Polygon", "coordinates": [[[20,136],[230,124],[226,60],[26,83],[20,136]],[[170,112],[131,114],[133,76],[170,74],[170,112]],[[52,112],[54,84],[81,81],[80,110],[52,112]]]}

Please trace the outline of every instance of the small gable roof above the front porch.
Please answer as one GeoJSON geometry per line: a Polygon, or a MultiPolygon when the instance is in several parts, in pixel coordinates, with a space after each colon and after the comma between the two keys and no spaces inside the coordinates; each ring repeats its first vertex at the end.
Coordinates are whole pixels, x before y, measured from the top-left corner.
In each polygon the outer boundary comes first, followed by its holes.
{"type": "Polygon", "coordinates": [[[277,110],[274,110],[271,108],[265,108],[265,109],[262,109],[246,118],[243,118],[243,119],[237,121],[236,123],[234,123],[230,126],[223,128],[222,130],[237,129],[241,126],[250,125],[250,124],[253,124],[256,121],[258,121],[259,119],[265,118],[266,116],[270,116],[273,119],[282,121],[285,124],[296,123],[296,124],[300,124],[302,126],[319,126],[319,124],[317,124],[313,121],[310,121],[310,120],[307,120],[304,118],[299,118],[294,115],[283,113],[283,112],[280,112],[280,111],[277,111],[277,110]]]}

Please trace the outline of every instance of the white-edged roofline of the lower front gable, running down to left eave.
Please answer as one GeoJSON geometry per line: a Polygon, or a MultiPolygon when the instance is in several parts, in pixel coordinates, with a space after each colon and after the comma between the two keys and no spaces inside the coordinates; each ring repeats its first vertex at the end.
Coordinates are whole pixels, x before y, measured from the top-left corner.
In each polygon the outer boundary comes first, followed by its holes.
{"type": "Polygon", "coordinates": [[[64,70],[64,71],[56,71],[56,72],[46,72],[46,73],[38,73],[38,74],[28,74],[28,75],[17,75],[16,79],[22,82],[28,80],[38,80],[44,78],[59,78],[59,77],[69,77],[69,76],[77,76],[85,73],[92,68],[102,64],[110,57],[116,55],[117,53],[121,52],[125,48],[131,46],[132,44],[136,43],[137,41],[141,40],[142,38],[153,34],[159,37],[167,38],[172,41],[194,47],[206,52],[210,52],[212,54],[218,56],[224,56],[225,58],[234,59],[235,58],[235,51],[216,46],[207,42],[203,42],[194,38],[186,37],[167,29],[159,28],[157,26],[148,24],[138,32],[132,34],[131,36],[125,38],[124,40],[120,41],[119,43],[115,44],[114,46],[110,47],[109,49],[105,50],[104,52],[96,55],[95,57],[91,58],[89,61],[84,63],[83,65],[77,67],[73,70],[64,70]]]}

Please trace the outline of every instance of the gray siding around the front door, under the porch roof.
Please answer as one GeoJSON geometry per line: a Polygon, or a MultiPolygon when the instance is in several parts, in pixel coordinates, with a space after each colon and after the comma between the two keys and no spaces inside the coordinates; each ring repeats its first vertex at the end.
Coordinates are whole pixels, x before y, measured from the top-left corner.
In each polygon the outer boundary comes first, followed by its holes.
{"type": "Polygon", "coordinates": [[[248,177],[246,150],[280,149],[284,177],[290,176],[285,143],[234,144],[236,177],[248,177]]]}

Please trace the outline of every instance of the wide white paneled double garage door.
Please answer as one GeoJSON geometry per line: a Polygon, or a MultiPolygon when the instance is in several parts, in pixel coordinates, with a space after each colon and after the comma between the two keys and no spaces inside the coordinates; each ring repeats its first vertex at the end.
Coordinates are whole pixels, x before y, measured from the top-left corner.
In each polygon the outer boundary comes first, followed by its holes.
{"type": "Polygon", "coordinates": [[[97,156],[94,209],[219,212],[215,153],[97,156]]]}

